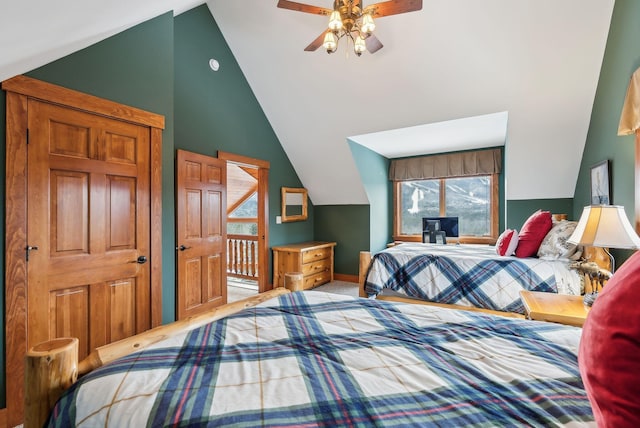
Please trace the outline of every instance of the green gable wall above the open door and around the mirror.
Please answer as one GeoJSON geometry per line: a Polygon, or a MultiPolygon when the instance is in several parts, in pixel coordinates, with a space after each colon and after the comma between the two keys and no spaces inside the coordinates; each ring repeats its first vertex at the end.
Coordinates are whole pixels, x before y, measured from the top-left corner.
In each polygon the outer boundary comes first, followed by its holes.
{"type": "Polygon", "coordinates": [[[269,161],[270,247],[313,239],[312,201],[307,221],[276,224],[280,188],[302,184],[206,5],[175,18],[174,109],[176,149],[269,161]]]}

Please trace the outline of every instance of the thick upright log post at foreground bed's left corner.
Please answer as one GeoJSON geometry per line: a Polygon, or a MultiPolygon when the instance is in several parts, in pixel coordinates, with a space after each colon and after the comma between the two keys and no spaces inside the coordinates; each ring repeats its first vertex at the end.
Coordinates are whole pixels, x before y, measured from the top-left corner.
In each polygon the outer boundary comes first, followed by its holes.
{"type": "Polygon", "coordinates": [[[41,428],[60,395],[78,378],[78,339],[53,339],[25,357],[25,428],[41,428]]]}

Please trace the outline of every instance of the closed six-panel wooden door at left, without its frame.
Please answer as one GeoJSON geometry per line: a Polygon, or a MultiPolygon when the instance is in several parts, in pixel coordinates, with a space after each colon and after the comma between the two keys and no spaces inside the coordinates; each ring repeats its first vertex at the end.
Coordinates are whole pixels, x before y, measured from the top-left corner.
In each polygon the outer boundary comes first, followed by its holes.
{"type": "Polygon", "coordinates": [[[149,130],[29,100],[28,346],[151,327],[149,130]]]}

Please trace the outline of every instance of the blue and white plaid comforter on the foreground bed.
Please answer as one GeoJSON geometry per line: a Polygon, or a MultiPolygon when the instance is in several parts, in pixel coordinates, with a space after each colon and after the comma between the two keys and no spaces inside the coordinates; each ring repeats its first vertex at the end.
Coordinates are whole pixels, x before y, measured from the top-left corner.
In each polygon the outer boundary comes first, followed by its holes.
{"type": "Polygon", "coordinates": [[[295,292],[82,378],[54,427],[593,423],[581,329],[295,292]]]}

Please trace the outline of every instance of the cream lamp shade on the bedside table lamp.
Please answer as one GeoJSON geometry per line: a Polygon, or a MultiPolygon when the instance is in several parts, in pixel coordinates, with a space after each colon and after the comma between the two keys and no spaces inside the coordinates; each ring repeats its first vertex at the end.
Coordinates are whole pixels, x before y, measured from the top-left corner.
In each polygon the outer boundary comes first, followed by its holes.
{"type": "Polygon", "coordinates": [[[640,248],[640,238],[620,205],[584,207],[578,225],[567,241],[601,248],[640,248]]]}

